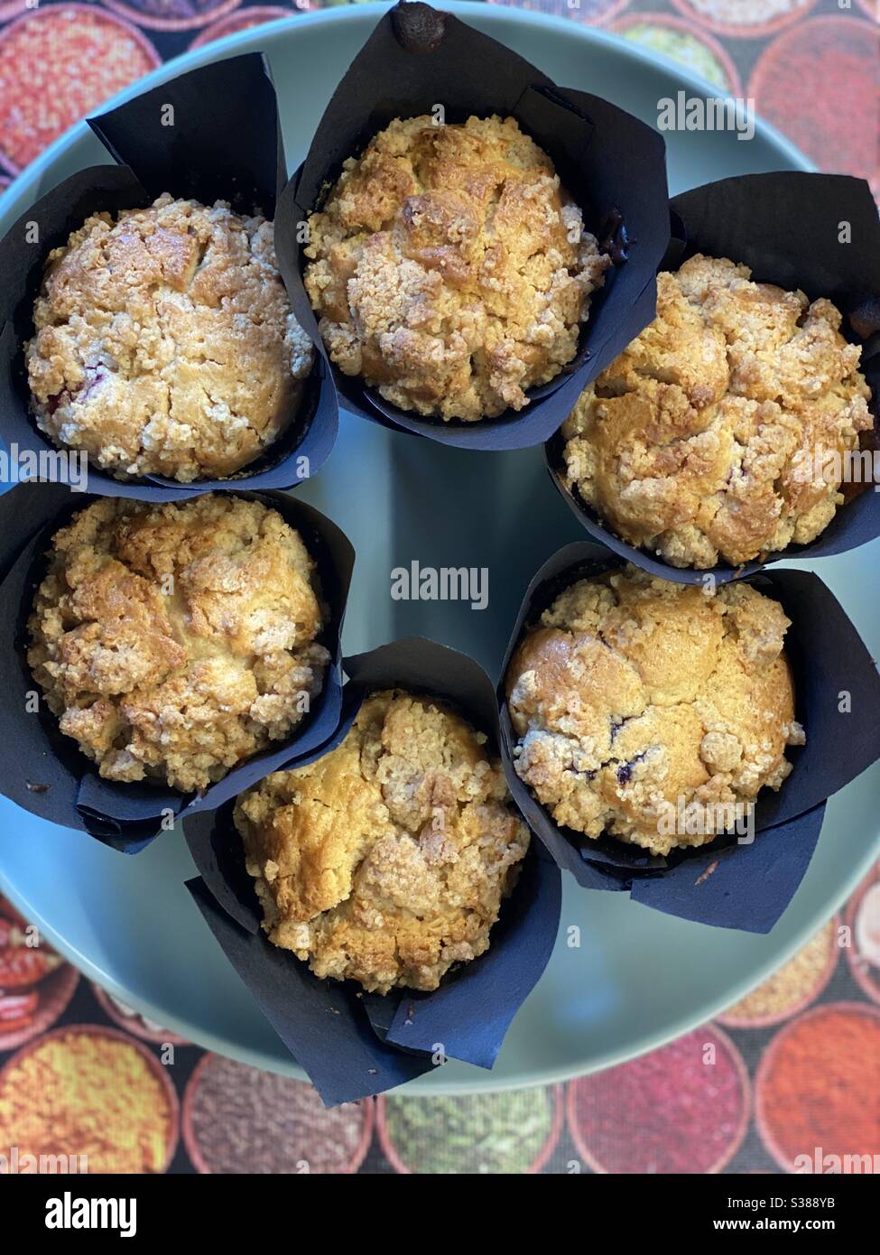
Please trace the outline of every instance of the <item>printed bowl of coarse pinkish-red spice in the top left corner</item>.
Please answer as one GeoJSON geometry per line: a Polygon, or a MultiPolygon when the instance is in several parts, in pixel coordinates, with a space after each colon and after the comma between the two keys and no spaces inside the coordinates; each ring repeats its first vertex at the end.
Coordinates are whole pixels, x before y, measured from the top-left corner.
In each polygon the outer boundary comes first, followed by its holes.
{"type": "Polygon", "coordinates": [[[14,174],[68,127],[159,64],[121,18],[82,4],[25,14],[0,33],[0,147],[14,174]]]}

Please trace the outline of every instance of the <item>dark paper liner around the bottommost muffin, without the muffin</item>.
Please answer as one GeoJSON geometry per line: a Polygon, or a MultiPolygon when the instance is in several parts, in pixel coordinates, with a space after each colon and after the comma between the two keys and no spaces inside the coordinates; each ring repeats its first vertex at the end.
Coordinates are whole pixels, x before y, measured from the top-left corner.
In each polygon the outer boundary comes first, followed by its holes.
{"type": "MultiPolygon", "coordinates": [[[[323,757],[351,727],[369,692],[403,688],[446,699],[497,752],[492,681],[464,654],[418,636],[344,661],[350,676],[335,734],[299,766],[323,757]]],[[[383,1093],[447,1058],[491,1068],[507,1028],[550,959],[559,929],[559,868],[532,841],[520,878],[501,905],[486,954],[433,993],[364,993],[355,981],[319,980],[308,964],[262,932],[245,871],[232,803],[185,823],[200,878],[187,887],[227,959],[328,1107],[383,1093]]]]}

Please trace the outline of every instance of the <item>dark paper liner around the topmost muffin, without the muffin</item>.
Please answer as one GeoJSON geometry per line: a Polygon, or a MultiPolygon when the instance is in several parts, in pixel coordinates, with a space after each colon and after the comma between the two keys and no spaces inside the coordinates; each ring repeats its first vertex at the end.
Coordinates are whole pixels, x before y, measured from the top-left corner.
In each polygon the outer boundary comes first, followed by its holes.
{"type": "Polygon", "coordinates": [[[596,95],[556,87],[529,61],[472,26],[422,3],[398,4],[346,70],[315,132],[305,162],[279,201],[279,260],[294,312],[313,339],[318,324],[303,286],[300,223],[394,118],[429,114],[437,102],[449,122],[472,114],[512,115],[550,154],[584,211],[588,231],[608,243],[615,264],[590,299],[577,355],[549,384],[531,389],[525,409],[477,423],[422,418],[383,400],[360,378],[331,365],[343,407],[397,430],[468,449],[540,444],[556,430],[595,376],[654,316],[655,272],[669,241],[665,146],[631,114],[596,95]],[[629,241],[629,245],[626,243],[629,241]]]}

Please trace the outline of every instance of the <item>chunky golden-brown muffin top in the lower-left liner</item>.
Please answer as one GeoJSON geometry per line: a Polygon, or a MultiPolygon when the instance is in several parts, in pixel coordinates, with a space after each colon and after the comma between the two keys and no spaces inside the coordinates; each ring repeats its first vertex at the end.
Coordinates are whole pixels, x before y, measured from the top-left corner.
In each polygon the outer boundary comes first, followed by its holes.
{"type": "Polygon", "coordinates": [[[53,537],[28,661],[100,776],[190,792],[300,722],[321,626],[315,563],[277,511],[104,498],[53,537]]]}

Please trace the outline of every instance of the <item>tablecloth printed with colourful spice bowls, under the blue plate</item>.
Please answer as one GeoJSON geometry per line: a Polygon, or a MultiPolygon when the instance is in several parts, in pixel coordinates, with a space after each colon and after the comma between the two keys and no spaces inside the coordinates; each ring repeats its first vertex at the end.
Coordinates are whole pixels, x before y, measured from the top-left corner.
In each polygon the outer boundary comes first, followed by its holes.
{"type": "MultiPolygon", "coordinates": [[[[162,60],[315,8],[0,0],[0,186],[162,60]]],[[[880,191],[869,0],[522,8],[619,31],[753,97],[820,168],[880,191]]],[[[879,1171],[880,863],[841,916],[717,1023],[613,1073],[334,1112],[310,1086],[144,1023],[0,899],[0,1170],[13,1147],[24,1156],[48,1145],[85,1155],[93,1171],[129,1172],[879,1171]]]]}

